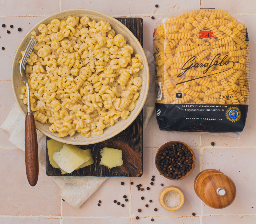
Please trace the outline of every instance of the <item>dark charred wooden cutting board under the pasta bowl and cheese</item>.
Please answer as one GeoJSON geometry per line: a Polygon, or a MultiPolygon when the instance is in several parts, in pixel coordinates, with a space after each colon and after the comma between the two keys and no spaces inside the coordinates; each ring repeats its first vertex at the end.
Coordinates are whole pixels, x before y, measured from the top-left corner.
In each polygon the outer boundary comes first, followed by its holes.
{"type": "MultiPolygon", "coordinates": [[[[143,47],[143,19],[142,18],[116,18],[123,23],[143,47]]],[[[50,140],[46,137],[46,141],[50,140]]],[[[143,110],[134,122],[123,132],[106,141],[79,146],[82,149],[90,148],[94,163],[72,173],[61,174],[60,169],[52,167],[49,161],[46,144],[46,174],[48,176],[96,176],[96,177],[140,177],[143,173],[143,110]],[[100,165],[100,149],[117,148],[122,150],[123,165],[108,169],[100,165]]]]}

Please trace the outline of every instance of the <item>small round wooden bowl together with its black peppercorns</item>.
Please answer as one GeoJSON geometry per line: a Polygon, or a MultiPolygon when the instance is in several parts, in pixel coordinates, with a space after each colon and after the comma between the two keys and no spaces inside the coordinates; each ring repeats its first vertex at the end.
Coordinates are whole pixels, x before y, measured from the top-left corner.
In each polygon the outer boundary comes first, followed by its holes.
{"type": "Polygon", "coordinates": [[[169,180],[182,180],[195,168],[194,151],[184,142],[169,141],[162,145],[155,158],[156,169],[169,180]]]}

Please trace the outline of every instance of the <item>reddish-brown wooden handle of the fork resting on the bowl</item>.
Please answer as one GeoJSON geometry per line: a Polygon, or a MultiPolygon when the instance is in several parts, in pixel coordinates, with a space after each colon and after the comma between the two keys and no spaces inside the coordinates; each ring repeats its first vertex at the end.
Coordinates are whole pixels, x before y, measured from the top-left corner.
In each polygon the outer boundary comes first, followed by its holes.
{"type": "Polygon", "coordinates": [[[35,186],[38,180],[38,145],[36,123],[33,114],[26,115],[25,123],[25,162],[28,183],[35,186]]]}

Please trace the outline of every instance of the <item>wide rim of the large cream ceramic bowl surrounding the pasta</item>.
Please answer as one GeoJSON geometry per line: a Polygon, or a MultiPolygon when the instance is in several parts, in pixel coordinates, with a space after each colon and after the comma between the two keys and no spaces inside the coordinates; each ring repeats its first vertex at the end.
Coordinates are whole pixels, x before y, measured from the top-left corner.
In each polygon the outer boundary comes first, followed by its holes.
{"type": "Polygon", "coordinates": [[[141,109],[143,108],[143,105],[147,99],[148,94],[148,87],[149,87],[149,69],[148,69],[148,62],[146,55],[143,51],[142,46],[140,45],[140,42],[138,39],[132,34],[132,32],[126,28],[121,22],[114,19],[111,16],[108,16],[102,12],[97,12],[94,10],[89,9],[70,9],[65,10],[61,12],[57,12],[55,14],[52,14],[51,16],[46,17],[45,19],[41,20],[39,23],[37,23],[32,29],[29,30],[27,35],[22,39],[20,42],[20,45],[15,53],[13,63],[12,63],[12,90],[13,94],[16,100],[16,103],[18,104],[18,107],[20,108],[20,111],[24,116],[26,116],[26,113],[28,111],[27,105],[23,104],[23,100],[19,98],[21,94],[21,87],[23,84],[23,79],[20,75],[19,71],[19,61],[22,58],[21,51],[24,51],[28,45],[28,42],[30,40],[31,32],[36,31],[37,34],[39,34],[38,26],[41,23],[49,24],[51,20],[53,19],[59,19],[59,20],[66,20],[69,15],[72,16],[79,16],[80,18],[82,16],[88,16],[90,20],[95,20],[96,22],[100,20],[106,20],[110,23],[111,27],[115,30],[116,34],[122,34],[124,38],[127,40],[127,44],[130,44],[135,54],[140,54],[142,56],[143,65],[144,68],[139,71],[140,77],[142,78],[142,88],[140,90],[140,96],[138,98],[138,101],[136,102],[135,108],[130,112],[129,117],[126,120],[120,120],[116,122],[113,126],[108,127],[104,129],[104,133],[100,136],[91,136],[90,138],[85,138],[80,133],[77,133],[73,135],[72,137],[66,136],[63,138],[58,137],[58,132],[52,133],[48,130],[50,127],[49,123],[40,123],[36,121],[36,128],[43,132],[46,136],[68,144],[73,145],[88,145],[88,144],[94,144],[97,142],[101,142],[107,139],[110,139],[117,135],[118,133],[122,132],[124,129],[126,129],[132,122],[135,120],[135,118],[139,115],[141,109]]]}

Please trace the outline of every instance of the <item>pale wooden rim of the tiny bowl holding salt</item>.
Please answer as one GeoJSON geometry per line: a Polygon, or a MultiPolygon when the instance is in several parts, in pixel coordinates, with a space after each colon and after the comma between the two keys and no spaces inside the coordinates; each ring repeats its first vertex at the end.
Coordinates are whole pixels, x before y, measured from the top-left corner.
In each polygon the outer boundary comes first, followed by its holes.
{"type": "Polygon", "coordinates": [[[160,191],[159,196],[158,196],[158,201],[164,209],[166,209],[168,211],[177,211],[178,209],[180,209],[183,206],[183,204],[185,202],[185,197],[184,197],[183,191],[180,188],[178,188],[176,186],[167,186],[167,187],[164,187],[160,191]],[[172,191],[172,190],[174,190],[174,191],[176,191],[177,193],[180,194],[180,204],[177,207],[174,207],[174,208],[168,207],[166,204],[164,204],[165,194],[168,193],[169,191],[172,191]]]}

